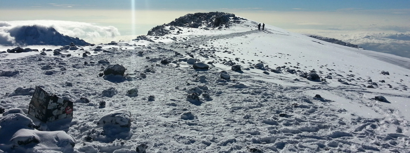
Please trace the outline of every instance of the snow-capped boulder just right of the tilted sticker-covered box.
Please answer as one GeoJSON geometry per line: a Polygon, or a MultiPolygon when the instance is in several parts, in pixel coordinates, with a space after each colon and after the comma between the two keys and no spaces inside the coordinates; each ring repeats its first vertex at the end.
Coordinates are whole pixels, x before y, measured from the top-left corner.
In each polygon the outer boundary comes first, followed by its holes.
{"type": "Polygon", "coordinates": [[[125,109],[118,109],[105,114],[97,122],[97,125],[106,129],[130,128],[131,113],[125,109]]]}

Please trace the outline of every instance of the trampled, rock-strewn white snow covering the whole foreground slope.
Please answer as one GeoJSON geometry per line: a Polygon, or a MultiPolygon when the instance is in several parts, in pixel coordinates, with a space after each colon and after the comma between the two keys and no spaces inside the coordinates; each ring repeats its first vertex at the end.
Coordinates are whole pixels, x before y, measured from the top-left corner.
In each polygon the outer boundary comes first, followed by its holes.
{"type": "MultiPolygon", "coordinates": [[[[178,34],[175,29],[157,38],[101,45],[117,50],[86,57],[30,55],[1,60],[1,71],[19,74],[0,77],[0,93],[7,95],[0,106],[27,113],[29,91],[14,92],[21,86],[40,85],[71,101],[89,99],[74,104],[71,122],[48,123],[48,129],[74,137],[73,152],[136,153],[143,143],[147,152],[158,153],[410,150],[408,58],[332,44],[269,25],[258,31],[256,22],[242,22],[219,30],[178,27],[182,29],[178,34]],[[193,69],[186,62],[192,56],[209,69],[193,69]],[[103,59],[109,63],[97,62],[103,59]],[[170,64],[162,64],[164,59],[170,64]],[[109,64],[123,65],[126,79],[100,77],[109,64]],[[240,71],[232,71],[235,64],[240,71]],[[51,69],[42,70],[44,65],[51,69]],[[320,79],[309,79],[311,71],[320,79]],[[103,96],[107,89],[115,94],[103,96]],[[129,96],[130,89],[137,89],[137,95],[129,96]],[[315,98],[317,94],[322,98],[315,98]],[[387,102],[372,99],[378,95],[387,102]],[[102,125],[104,120],[110,120],[108,126],[102,125]]],[[[46,150],[61,151],[36,151],[46,150]]]]}

